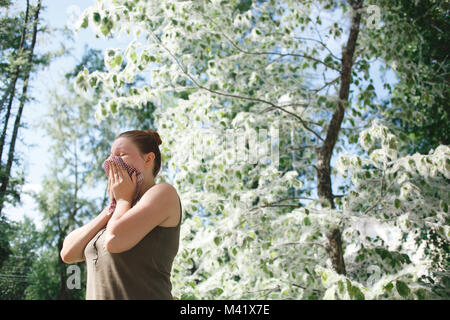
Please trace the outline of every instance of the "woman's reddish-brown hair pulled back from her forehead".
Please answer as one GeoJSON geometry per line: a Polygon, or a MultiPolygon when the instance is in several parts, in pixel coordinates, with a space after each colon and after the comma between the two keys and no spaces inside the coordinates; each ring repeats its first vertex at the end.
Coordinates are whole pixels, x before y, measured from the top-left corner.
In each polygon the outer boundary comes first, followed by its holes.
{"type": "Polygon", "coordinates": [[[141,156],[149,152],[155,154],[153,176],[156,177],[161,168],[161,152],[159,151],[159,145],[162,141],[158,132],[154,130],[130,130],[122,132],[116,137],[116,139],[118,138],[128,138],[133,141],[140,151],[141,156]]]}

